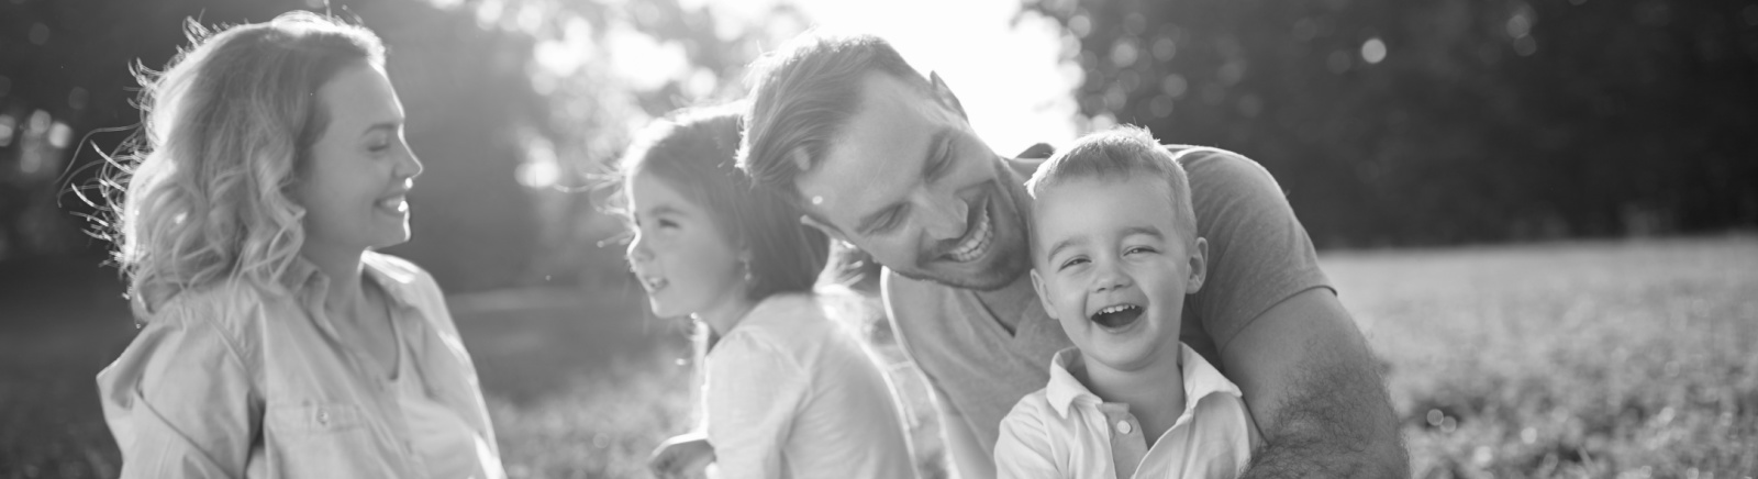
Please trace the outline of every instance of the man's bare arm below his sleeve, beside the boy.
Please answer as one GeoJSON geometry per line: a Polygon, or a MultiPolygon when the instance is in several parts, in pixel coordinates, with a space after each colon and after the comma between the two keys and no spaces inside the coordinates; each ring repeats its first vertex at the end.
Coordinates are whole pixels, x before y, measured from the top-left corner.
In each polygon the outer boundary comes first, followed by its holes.
{"type": "Polygon", "coordinates": [[[1385,380],[1331,291],[1271,306],[1220,356],[1264,437],[1241,477],[1410,477],[1385,380]]]}

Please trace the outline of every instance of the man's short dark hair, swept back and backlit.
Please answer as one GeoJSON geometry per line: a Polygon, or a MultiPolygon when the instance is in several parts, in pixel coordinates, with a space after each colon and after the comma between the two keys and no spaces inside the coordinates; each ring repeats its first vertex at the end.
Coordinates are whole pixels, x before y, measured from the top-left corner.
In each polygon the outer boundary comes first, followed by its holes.
{"type": "Polygon", "coordinates": [[[751,113],[738,167],[758,185],[798,199],[793,180],[817,167],[861,104],[867,74],[883,72],[928,90],[928,81],[875,35],[805,32],[752,62],[751,113]],[[805,155],[805,167],[795,155],[805,155]]]}

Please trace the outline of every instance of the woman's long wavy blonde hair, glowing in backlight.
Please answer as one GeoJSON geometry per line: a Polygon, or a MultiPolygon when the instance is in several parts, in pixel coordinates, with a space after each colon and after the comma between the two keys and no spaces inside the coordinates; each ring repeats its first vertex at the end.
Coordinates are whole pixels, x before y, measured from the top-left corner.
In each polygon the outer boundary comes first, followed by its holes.
{"type": "Polygon", "coordinates": [[[186,30],[192,48],[163,72],[135,67],[141,136],[102,183],[98,232],[116,245],[141,321],[195,287],[278,287],[304,243],[304,208],[288,192],[329,125],[316,92],[385,58],[371,30],[311,12],[186,30]]]}

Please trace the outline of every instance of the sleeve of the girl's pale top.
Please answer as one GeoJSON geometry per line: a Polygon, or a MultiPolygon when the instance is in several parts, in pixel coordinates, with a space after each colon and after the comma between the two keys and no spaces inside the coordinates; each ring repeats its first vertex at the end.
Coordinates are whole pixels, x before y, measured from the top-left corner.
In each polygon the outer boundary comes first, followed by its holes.
{"type": "Polygon", "coordinates": [[[708,357],[707,433],[721,477],[781,477],[781,451],[807,394],[805,370],[775,343],[728,335],[708,357]]]}

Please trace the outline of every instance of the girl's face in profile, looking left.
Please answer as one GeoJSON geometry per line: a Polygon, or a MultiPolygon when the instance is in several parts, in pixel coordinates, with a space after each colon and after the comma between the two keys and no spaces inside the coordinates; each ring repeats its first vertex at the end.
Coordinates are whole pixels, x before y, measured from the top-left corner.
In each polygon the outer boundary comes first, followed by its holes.
{"type": "Polygon", "coordinates": [[[707,208],[652,173],[626,183],[635,241],[628,257],[654,315],[682,317],[745,294],[740,252],[707,208]]]}

